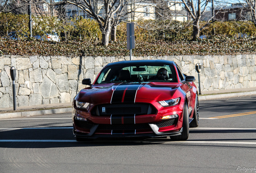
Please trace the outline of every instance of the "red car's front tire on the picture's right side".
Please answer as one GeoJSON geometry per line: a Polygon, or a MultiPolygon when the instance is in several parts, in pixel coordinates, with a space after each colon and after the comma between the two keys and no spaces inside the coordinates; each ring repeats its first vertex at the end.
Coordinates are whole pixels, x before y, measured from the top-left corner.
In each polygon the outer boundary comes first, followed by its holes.
{"type": "Polygon", "coordinates": [[[171,136],[171,139],[178,141],[186,141],[188,139],[189,134],[189,123],[188,123],[188,104],[185,102],[183,109],[183,123],[182,123],[182,133],[181,135],[171,136]]]}

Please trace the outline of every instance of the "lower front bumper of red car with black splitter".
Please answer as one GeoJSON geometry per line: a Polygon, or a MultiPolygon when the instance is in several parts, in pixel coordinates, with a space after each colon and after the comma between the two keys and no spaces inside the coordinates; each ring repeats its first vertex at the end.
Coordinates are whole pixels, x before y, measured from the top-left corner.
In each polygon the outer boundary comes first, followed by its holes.
{"type": "MultiPolygon", "coordinates": [[[[162,127],[163,123],[144,123],[144,124],[127,124],[127,125],[106,125],[106,124],[91,124],[89,122],[82,122],[83,124],[73,124],[73,133],[75,137],[79,138],[99,138],[99,137],[167,137],[181,135],[182,128],[171,131],[161,132],[159,129],[175,127],[178,118],[164,121],[167,127],[162,127]],[[80,127],[78,127],[78,125],[80,127]],[[171,126],[168,126],[171,125],[171,126]],[[83,126],[83,128],[81,128],[83,126]],[[160,127],[160,128],[159,128],[160,127]],[[161,128],[162,127],[162,128],[161,128]]],[[[81,122],[80,122],[81,123],[81,122]]],[[[173,129],[173,128],[171,128],[173,129]]]]}

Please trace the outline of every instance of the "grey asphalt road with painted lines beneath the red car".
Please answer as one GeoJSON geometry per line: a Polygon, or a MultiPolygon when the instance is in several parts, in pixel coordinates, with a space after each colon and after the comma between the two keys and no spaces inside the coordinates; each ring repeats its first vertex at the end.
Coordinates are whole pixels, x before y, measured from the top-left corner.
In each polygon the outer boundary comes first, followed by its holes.
{"type": "Polygon", "coordinates": [[[199,104],[200,125],[184,142],[76,142],[70,113],[0,119],[0,172],[256,172],[256,95],[199,104]]]}

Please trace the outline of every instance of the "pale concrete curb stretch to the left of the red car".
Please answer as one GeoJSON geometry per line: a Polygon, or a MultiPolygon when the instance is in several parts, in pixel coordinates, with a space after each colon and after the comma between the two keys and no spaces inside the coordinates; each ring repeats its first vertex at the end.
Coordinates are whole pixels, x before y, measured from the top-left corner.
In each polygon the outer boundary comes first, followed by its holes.
{"type": "Polygon", "coordinates": [[[17,112],[17,113],[2,113],[0,114],[0,119],[15,118],[15,117],[28,117],[35,115],[49,115],[49,114],[58,114],[58,113],[71,113],[72,108],[61,108],[61,109],[49,109],[41,111],[26,111],[26,112],[17,112]]]}

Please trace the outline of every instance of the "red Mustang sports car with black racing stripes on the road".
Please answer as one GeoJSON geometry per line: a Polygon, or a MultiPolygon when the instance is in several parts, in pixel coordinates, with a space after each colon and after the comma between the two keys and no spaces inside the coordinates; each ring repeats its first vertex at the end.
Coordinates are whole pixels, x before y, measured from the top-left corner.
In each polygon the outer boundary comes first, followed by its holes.
{"type": "Polygon", "coordinates": [[[73,101],[77,141],[98,137],[188,139],[199,123],[194,76],[167,60],[132,60],[107,64],[73,101]]]}

